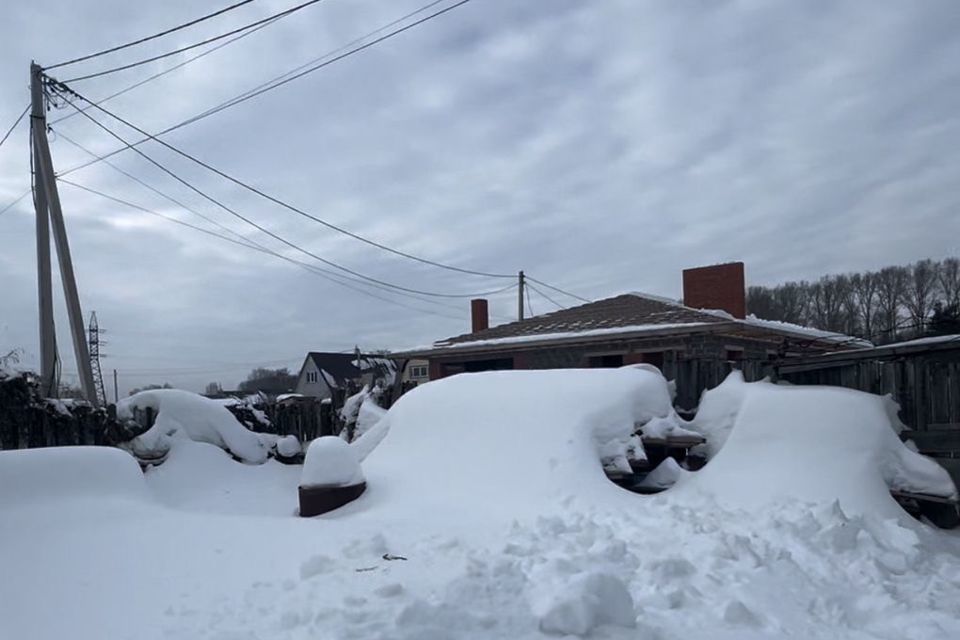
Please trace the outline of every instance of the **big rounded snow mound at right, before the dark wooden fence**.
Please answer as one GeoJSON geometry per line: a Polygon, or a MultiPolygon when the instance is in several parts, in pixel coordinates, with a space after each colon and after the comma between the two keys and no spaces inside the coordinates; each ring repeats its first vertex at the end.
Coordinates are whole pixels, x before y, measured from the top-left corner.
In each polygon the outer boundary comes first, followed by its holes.
{"type": "Polygon", "coordinates": [[[726,444],[680,489],[695,488],[748,509],[839,501],[847,513],[887,517],[903,515],[891,489],[957,496],[945,469],[900,442],[879,396],[734,379],[721,397],[724,402],[716,404],[723,411],[708,405],[708,415],[718,419],[708,431],[729,433],[726,444]]]}

